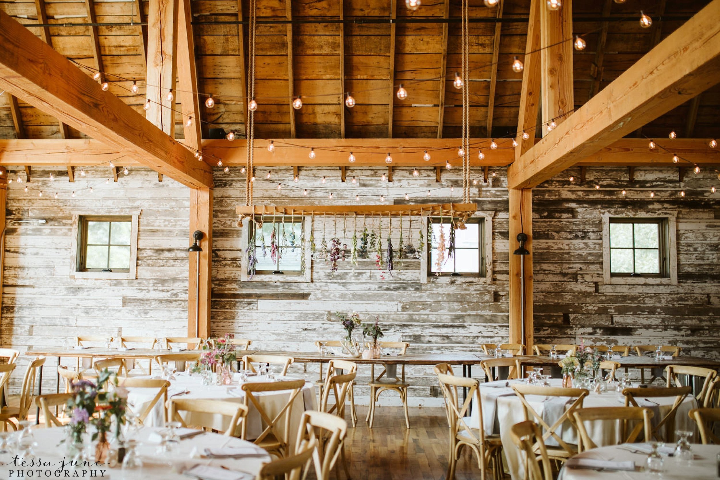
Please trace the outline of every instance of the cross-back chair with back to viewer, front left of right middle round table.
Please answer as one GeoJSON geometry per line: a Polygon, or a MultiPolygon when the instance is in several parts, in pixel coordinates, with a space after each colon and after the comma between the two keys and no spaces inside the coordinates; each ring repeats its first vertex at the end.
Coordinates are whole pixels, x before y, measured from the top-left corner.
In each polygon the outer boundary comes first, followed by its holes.
{"type": "MultiPolygon", "coordinates": [[[[541,437],[542,442],[546,443],[547,439],[552,437],[558,443],[558,447],[546,447],[549,458],[564,462],[568,458],[572,457],[572,455],[575,455],[577,453],[577,445],[572,445],[565,442],[565,440],[562,440],[562,437],[558,435],[557,430],[562,426],[562,424],[564,424],[564,422],[570,422],[570,425],[572,425],[573,428],[577,428],[575,425],[575,419],[572,417],[572,413],[575,412],[576,409],[582,408],[582,401],[586,396],[588,396],[589,392],[585,388],[546,387],[524,385],[522,383],[516,383],[513,385],[513,390],[522,402],[523,406],[525,406],[523,409],[525,419],[530,420],[531,415],[533,417],[532,420],[540,425],[544,430],[541,437]],[[570,403],[570,406],[567,406],[562,415],[560,415],[560,417],[555,420],[552,425],[548,425],[542,415],[536,412],[530,402],[526,399],[527,395],[562,397],[569,399],[568,403],[572,400],[572,403],[570,403]]],[[[534,451],[539,451],[539,444],[536,444],[534,451]]]]}

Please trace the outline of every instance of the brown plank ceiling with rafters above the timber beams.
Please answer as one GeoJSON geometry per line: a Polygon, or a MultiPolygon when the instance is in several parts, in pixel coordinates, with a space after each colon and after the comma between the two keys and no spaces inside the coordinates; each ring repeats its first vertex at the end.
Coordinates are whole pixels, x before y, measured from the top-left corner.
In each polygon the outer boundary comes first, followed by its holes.
{"type": "MultiPolygon", "coordinates": [[[[423,0],[417,12],[410,12],[404,1],[394,1],[258,0],[256,136],[459,137],[461,96],[452,79],[460,64],[460,2],[423,0]],[[408,99],[395,97],[401,83],[408,89],[408,99]],[[342,92],[353,94],[355,107],[343,105],[342,92]],[[291,94],[302,96],[301,110],[290,106],[291,94]]],[[[573,56],[575,107],[708,3],[575,1],[573,35],[584,35],[588,44],[573,56]],[[639,25],[640,10],[654,21],[649,29],[639,25]]],[[[192,1],[199,90],[212,94],[217,102],[212,109],[201,104],[202,120],[212,123],[204,125],[204,138],[212,137],[210,128],[244,133],[248,27],[238,25],[238,6],[243,10],[241,19],[247,20],[248,4],[247,0],[192,1]]],[[[518,125],[522,74],[513,72],[510,64],[513,56],[522,59],[525,52],[529,0],[505,0],[500,5],[489,9],[482,0],[470,1],[472,75],[466,84],[475,137],[501,137],[518,125]]],[[[128,79],[111,84],[110,91],[144,113],[143,27],[129,24],[145,19],[148,2],[0,1],[0,9],[29,27],[49,25],[30,30],[67,58],[93,69],[100,66],[110,81],[115,76],[128,79]],[[81,25],[88,22],[99,25],[81,25]],[[130,94],[130,79],[142,85],[138,95],[130,94]]],[[[0,138],[85,137],[22,100],[14,109],[13,102],[8,94],[0,95],[0,138]]],[[[715,86],[652,121],[642,134],[666,138],[674,129],[678,137],[715,138],[720,136],[719,114],[720,86],[715,86]]],[[[176,117],[178,137],[183,135],[181,123],[176,117]]]]}

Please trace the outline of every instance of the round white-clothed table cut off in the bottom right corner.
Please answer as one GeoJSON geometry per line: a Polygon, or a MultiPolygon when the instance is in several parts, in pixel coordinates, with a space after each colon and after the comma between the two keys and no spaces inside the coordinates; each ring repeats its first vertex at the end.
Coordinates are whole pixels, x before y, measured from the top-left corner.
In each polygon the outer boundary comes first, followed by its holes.
{"type": "Polygon", "coordinates": [[[649,474],[645,468],[647,444],[624,443],[622,445],[593,448],[578,453],[560,470],[557,480],[658,480],[669,479],[717,479],[720,475],[717,455],[720,445],[691,444],[693,460],[680,461],[674,456],[662,455],[662,467],[658,474],[649,474]],[[592,460],[612,463],[631,461],[632,470],[615,470],[611,463],[593,465],[592,460]],[[568,466],[577,463],[577,466],[568,466]]]}

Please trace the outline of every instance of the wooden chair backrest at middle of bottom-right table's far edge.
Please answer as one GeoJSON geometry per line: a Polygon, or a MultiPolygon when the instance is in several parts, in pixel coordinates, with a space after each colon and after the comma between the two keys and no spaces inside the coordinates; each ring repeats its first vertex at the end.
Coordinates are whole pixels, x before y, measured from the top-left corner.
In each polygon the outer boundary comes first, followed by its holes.
{"type": "Polygon", "coordinates": [[[578,443],[579,451],[590,450],[591,448],[604,447],[606,445],[619,445],[620,443],[636,443],[640,432],[644,433],[643,440],[649,442],[652,440],[652,419],[653,413],[650,409],[644,409],[636,406],[596,406],[589,409],[576,409],[572,413],[575,417],[575,425],[577,432],[580,433],[580,443],[578,443]],[[611,443],[604,445],[596,445],[585,428],[585,422],[602,421],[619,421],[620,431],[619,439],[614,438],[611,443]],[[630,428],[631,422],[636,422],[635,426],[630,428]]]}

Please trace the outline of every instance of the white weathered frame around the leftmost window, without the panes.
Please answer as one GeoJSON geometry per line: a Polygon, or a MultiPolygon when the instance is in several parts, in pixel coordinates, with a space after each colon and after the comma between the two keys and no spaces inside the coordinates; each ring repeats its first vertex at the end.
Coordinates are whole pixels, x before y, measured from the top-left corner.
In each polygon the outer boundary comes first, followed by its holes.
{"type": "Polygon", "coordinates": [[[72,278],[135,280],[138,267],[138,221],[139,213],[74,213],[72,228],[71,274],[72,278]],[[99,269],[84,269],[88,221],[130,220],[130,265],[127,269],[103,272],[99,269]]]}

